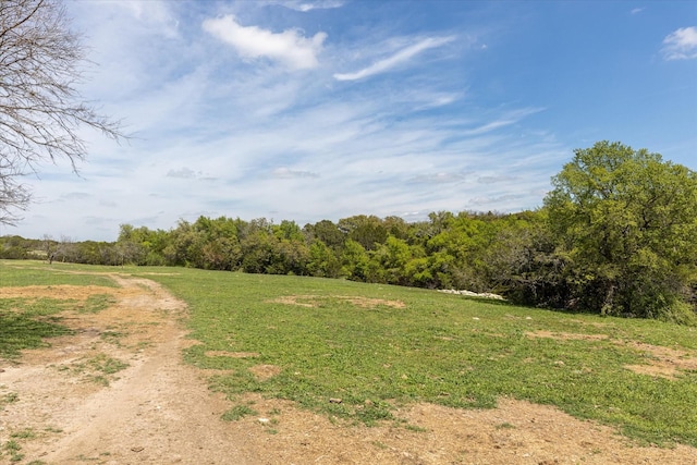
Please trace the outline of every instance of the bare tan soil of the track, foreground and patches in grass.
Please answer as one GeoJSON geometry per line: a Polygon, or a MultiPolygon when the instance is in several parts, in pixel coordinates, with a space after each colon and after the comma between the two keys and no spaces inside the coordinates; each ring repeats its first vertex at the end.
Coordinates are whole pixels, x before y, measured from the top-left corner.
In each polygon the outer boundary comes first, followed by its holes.
{"type": "MultiPolygon", "coordinates": [[[[0,297],[115,299],[97,314],[63,313],[73,335],[25,351],[19,364],[0,360],[0,464],[697,464],[697,449],[639,446],[512,399],[485,411],[412,405],[398,413],[408,428],[368,428],[250,394],[259,415],[224,421],[232,404],[208,390],[210,370],[182,363],[192,343],[185,305],[152,281],[110,276],[120,287],[0,287],[0,297]],[[129,366],[111,372],[90,363],[105,359],[129,366]]],[[[374,304],[383,303],[360,303],[374,304]]],[[[693,360],[663,352],[657,363],[693,360]]],[[[279,368],[253,371],[268,378],[279,368]]]]}

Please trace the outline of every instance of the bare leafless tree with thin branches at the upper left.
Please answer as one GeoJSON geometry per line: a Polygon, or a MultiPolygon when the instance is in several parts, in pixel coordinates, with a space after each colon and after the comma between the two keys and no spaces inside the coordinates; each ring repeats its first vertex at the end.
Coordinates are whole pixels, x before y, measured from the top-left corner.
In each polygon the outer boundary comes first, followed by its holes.
{"type": "Polygon", "coordinates": [[[77,171],[81,126],[123,137],[76,88],[87,63],[61,0],[0,0],[0,224],[28,207],[22,179],[38,166],[66,159],[77,171]]]}

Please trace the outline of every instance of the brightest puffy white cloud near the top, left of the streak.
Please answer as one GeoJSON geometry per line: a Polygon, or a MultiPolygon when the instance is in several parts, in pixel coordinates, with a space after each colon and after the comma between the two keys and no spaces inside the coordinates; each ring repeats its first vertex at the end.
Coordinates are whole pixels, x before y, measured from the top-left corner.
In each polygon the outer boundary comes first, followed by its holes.
{"type": "Polygon", "coordinates": [[[206,20],[204,29],[233,46],[244,58],[268,58],[293,70],[316,68],[317,54],[327,38],[321,32],[305,38],[296,29],[273,33],[257,26],[242,26],[233,15],[206,20]]]}

